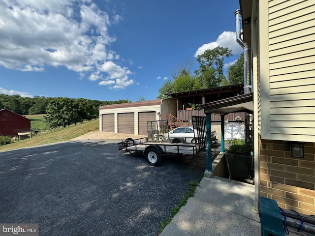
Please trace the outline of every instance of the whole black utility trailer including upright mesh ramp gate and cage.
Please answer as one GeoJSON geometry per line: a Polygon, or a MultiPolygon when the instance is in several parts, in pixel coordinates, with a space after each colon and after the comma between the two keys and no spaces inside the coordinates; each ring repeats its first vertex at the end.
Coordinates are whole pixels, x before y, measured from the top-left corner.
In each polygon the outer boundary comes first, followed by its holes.
{"type": "MultiPolygon", "coordinates": [[[[148,137],[140,139],[127,138],[118,143],[118,149],[129,153],[142,153],[152,166],[158,166],[163,156],[195,156],[197,152],[206,147],[205,137],[199,136],[206,130],[205,117],[192,117],[193,128],[198,130],[197,143],[169,143],[167,120],[148,121],[148,137]]],[[[181,140],[180,140],[181,141],[181,140]]]]}

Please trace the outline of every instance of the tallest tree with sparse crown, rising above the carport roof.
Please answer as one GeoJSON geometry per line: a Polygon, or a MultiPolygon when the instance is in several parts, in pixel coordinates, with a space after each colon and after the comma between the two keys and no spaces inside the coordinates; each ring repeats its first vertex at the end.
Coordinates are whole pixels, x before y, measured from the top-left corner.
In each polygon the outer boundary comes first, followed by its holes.
{"type": "Polygon", "coordinates": [[[221,86],[226,82],[223,74],[224,59],[232,56],[232,51],[228,48],[216,47],[206,50],[197,57],[199,69],[195,71],[199,76],[201,84],[207,88],[221,86]]]}

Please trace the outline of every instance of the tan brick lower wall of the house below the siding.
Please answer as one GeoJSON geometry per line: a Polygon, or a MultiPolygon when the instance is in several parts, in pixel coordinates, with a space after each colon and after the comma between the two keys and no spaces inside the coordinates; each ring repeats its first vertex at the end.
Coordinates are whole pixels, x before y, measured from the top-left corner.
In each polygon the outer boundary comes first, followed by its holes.
{"type": "Polygon", "coordinates": [[[296,158],[285,141],[259,140],[259,165],[259,196],[315,214],[315,143],[305,143],[304,158],[296,158]]]}

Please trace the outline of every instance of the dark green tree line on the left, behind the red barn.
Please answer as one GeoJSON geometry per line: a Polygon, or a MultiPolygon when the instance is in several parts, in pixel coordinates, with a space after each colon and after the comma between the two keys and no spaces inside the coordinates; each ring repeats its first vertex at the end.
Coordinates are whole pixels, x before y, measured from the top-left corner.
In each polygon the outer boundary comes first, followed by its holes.
{"type": "Polygon", "coordinates": [[[19,115],[46,114],[48,129],[65,127],[84,120],[98,118],[98,108],[104,105],[131,102],[130,100],[99,101],[85,98],[21,97],[20,95],[0,94],[0,108],[7,108],[19,115]]]}

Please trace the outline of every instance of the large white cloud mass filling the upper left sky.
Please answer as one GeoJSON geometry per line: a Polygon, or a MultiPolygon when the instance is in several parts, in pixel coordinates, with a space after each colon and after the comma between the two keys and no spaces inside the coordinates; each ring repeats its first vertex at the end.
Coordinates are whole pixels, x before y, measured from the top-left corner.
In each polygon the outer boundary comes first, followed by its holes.
{"type": "Polygon", "coordinates": [[[93,0],[0,0],[0,66],[38,72],[64,66],[91,81],[106,72],[125,88],[131,72],[113,62],[120,55],[109,49],[116,37],[108,32],[122,19],[110,18],[93,0]],[[119,69],[104,70],[106,62],[119,69]]]}

